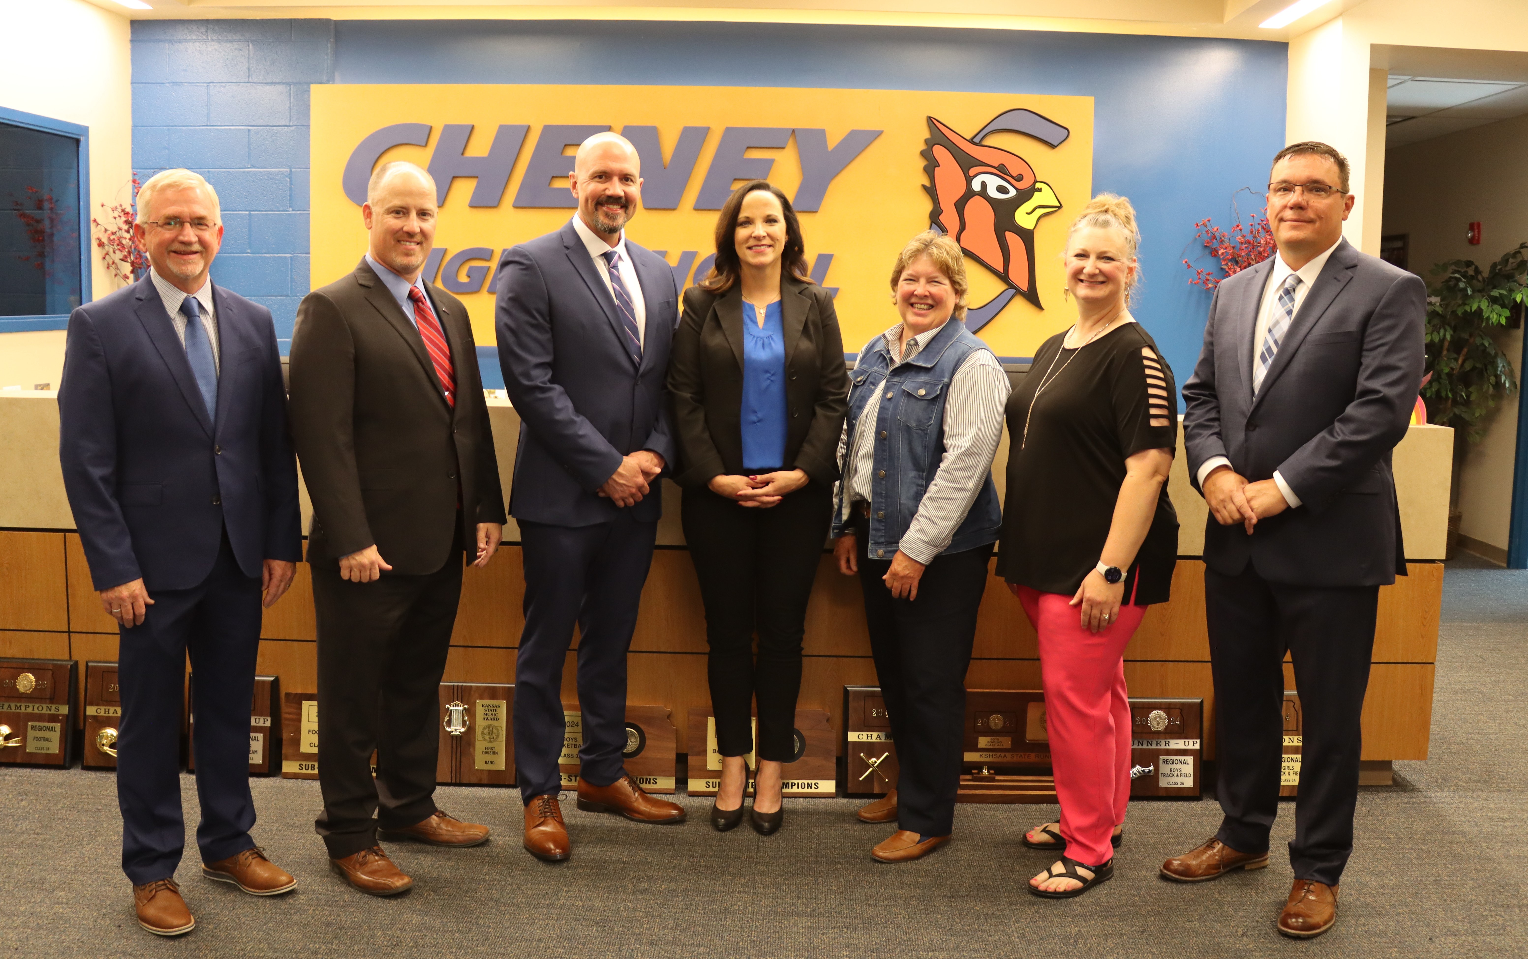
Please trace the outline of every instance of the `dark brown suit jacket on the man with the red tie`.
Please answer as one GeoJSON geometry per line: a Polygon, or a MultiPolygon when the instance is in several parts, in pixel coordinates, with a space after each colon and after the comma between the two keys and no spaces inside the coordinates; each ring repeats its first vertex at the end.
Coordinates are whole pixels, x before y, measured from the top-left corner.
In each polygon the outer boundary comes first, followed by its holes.
{"type": "Polygon", "coordinates": [[[426,284],[457,379],[446,403],[419,330],[371,266],[303,298],[292,334],[292,438],[313,499],[307,560],[376,544],[393,574],[435,573],[455,539],[504,522],[477,345],[461,301],[426,284]]]}

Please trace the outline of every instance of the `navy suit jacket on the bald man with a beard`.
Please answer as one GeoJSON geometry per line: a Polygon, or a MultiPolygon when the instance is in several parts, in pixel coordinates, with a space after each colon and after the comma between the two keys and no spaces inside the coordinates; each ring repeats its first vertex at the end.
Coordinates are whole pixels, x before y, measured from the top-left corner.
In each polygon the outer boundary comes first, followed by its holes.
{"type": "MultiPolygon", "coordinates": [[[[665,379],[678,284],[662,257],[630,238],[626,253],[646,302],[640,363],[626,351],[616,299],[571,221],[504,253],[495,321],[504,386],[520,414],[509,496],[516,519],[610,522],[619,507],[596,490],[622,457],[649,449],[674,463],[665,379]]],[[[659,483],[630,507],[637,519],[662,515],[659,483]]]]}

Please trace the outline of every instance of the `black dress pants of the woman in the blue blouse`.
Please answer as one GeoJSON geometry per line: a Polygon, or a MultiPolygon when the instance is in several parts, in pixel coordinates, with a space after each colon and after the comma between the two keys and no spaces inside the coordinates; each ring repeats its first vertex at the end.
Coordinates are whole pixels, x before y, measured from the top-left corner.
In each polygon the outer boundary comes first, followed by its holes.
{"type": "Polygon", "coordinates": [[[801,637],[833,519],[833,490],[808,483],[778,505],[758,509],[709,489],[686,489],[681,516],[706,605],[717,750],[723,756],[753,751],[749,719],[756,698],[758,759],[790,762],[801,637]]]}

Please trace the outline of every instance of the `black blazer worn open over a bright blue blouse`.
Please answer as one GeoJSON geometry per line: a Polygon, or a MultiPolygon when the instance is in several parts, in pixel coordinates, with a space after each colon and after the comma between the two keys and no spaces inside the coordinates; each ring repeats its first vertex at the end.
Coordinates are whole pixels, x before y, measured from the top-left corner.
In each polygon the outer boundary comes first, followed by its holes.
{"type": "MultiPolygon", "coordinates": [[[[787,469],[824,486],[839,478],[837,449],[848,411],[850,377],[833,295],[785,276],[779,284],[785,333],[787,469]]],[[[743,473],[743,287],[726,293],[685,290],[685,312],[669,359],[680,486],[743,473]]]]}

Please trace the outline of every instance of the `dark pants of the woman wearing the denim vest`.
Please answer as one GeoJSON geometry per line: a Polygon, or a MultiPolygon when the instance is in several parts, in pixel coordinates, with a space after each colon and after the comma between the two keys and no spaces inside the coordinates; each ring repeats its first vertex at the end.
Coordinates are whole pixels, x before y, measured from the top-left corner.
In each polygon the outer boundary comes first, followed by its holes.
{"type": "Polygon", "coordinates": [[[949,835],[955,828],[966,670],[976,609],[987,588],[992,544],[941,553],[918,580],[918,599],[892,599],[888,559],[869,559],[868,524],[859,522],[860,589],[876,676],[897,744],[897,823],[909,832],[949,835]]]}

